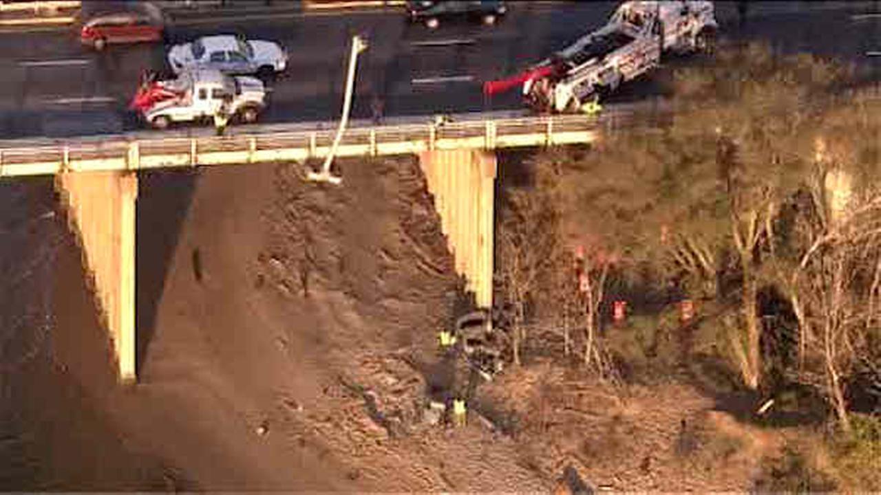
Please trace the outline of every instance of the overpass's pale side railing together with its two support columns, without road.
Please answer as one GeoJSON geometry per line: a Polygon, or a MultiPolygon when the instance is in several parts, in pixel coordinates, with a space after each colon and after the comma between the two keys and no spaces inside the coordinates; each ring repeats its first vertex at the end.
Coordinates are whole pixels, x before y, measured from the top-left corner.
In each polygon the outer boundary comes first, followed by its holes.
{"type": "MultiPolygon", "coordinates": [[[[471,118],[437,126],[356,126],[337,156],[416,154],[442,231],[478,307],[492,307],[495,150],[589,144],[603,122],[583,115],[471,118]]],[[[423,120],[428,120],[423,119],[423,120]]],[[[113,342],[119,377],[136,380],[137,173],[169,167],[303,164],[330,151],[333,131],[308,129],[229,137],[103,137],[0,146],[0,177],[55,175],[77,234],[90,287],[113,342]]]]}

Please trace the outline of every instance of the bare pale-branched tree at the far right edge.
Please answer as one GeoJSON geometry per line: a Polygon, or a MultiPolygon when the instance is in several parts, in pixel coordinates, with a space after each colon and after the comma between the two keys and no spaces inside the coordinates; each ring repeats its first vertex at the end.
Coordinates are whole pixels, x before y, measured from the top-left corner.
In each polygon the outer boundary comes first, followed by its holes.
{"type": "Polygon", "coordinates": [[[844,430],[845,380],[870,353],[881,285],[881,192],[852,181],[855,172],[879,165],[877,141],[861,135],[881,130],[881,121],[850,122],[849,137],[840,136],[832,150],[815,143],[814,174],[804,182],[810,194],[801,196],[788,232],[795,249],[789,263],[784,253],[774,256],[799,324],[797,379],[824,392],[844,430]]]}

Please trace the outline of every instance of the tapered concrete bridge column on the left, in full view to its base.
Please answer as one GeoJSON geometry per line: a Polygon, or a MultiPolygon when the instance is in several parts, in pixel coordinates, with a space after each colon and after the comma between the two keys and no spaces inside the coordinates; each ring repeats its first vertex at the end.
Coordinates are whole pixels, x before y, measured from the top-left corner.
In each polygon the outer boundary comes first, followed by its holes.
{"type": "Polygon", "coordinates": [[[135,223],[137,174],[56,175],[56,189],[77,236],[86,277],[113,342],[119,378],[135,375],[135,223]]]}

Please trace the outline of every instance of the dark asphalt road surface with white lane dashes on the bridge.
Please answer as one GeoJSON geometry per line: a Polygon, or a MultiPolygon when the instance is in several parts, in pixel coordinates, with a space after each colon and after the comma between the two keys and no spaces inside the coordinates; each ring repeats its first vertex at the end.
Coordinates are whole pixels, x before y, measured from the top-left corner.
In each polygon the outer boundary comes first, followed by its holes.
{"type": "MultiPolygon", "coordinates": [[[[288,48],[289,68],[271,85],[263,122],[337,118],[354,33],[369,48],[359,57],[353,117],[370,115],[374,95],[385,115],[433,115],[521,107],[516,91],[485,100],[485,80],[537,62],[602,26],[617,2],[512,2],[497,26],[410,26],[401,11],[329,15],[193,16],[169,26],[171,42],[210,33],[243,33],[288,48]]],[[[718,2],[722,36],[764,40],[783,52],[807,51],[862,63],[877,75],[881,5],[874,2],[751,3],[738,24],[732,2],[718,2]]],[[[165,69],[165,47],[115,46],[94,53],[75,27],[0,33],[0,138],[119,133],[142,124],[126,107],[145,68],[165,69]]],[[[631,85],[631,98],[656,91],[652,78],[631,85]],[[635,88],[635,89],[634,89],[635,88]]]]}

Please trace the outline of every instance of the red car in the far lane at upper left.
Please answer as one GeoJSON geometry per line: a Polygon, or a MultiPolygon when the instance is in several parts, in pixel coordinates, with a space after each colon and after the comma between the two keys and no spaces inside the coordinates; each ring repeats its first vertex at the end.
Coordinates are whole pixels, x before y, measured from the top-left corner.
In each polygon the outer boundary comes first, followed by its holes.
{"type": "Polygon", "coordinates": [[[109,43],[162,41],[162,14],[152,4],[130,4],[124,11],[96,12],[79,32],[79,41],[102,50],[109,43]]]}

